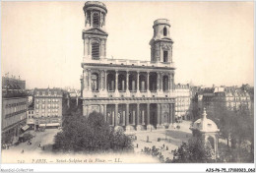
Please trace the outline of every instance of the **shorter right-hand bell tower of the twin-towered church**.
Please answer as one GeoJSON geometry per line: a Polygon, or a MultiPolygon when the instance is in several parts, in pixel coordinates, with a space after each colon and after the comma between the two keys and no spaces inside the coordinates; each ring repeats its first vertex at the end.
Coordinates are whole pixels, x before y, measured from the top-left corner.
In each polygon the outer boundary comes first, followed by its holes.
{"type": "Polygon", "coordinates": [[[154,36],[150,41],[151,61],[172,63],[172,44],[169,35],[169,20],[159,19],[154,22],[154,36]]]}

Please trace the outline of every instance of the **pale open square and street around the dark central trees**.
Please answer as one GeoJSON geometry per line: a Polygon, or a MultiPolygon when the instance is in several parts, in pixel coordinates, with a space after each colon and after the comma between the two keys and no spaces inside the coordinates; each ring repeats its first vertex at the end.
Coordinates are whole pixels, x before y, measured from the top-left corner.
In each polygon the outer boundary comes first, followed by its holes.
{"type": "MultiPolygon", "coordinates": [[[[69,158],[82,159],[82,158],[92,158],[95,160],[92,163],[96,163],[96,160],[105,160],[104,162],[114,163],[114,160],[118,158],[121,162],[125,163],[158,163],[160,160],[154,158],[151,155],[142,154],[142,149],[144,147],[152,148],[155,145],[160,148],[160,152],[164,159],[169,157],[173,158],[174,149],[178,148],[182,142],[187,142],[192,136],[189,121],[183,121],[183,123],[178,124],[180,129],[166,129],[166,130],[154,130],[141,131],[141,132],[130,132],[126,134],[133,134],[137,137],[137,140],[133,142],[134,153],[101,153],[100,155],[85,155],[82,153],[53,153],[51,151],[52,144],[54,143],[54,136],[60,132],[58,129],[46,129],[44,132],[33,132],[30,133],[35,136],[32,138],[32,144],[29,145],[28,142],[21,143],[18,145],[10,146],[9,149],[2,150],[2,162],[3,163],[37,163],[36,161],[41,161],[41,159],[47,158],[46,162],[59,163],[59,160],[64,160],[66,163],[70,162],[69,158]],[[147,137],[149,137],[149,143],[147,143],[147,137]],[[160,142],[158,139],[160,138],[160,142]],[[39,146],[40,144],[40,146],[39,146]],[[138,147],[137,147],[138,144],[138,147]],[[162,147],[164,144],[164,147],[162,147]],[[44,149],[43,149],[44,147],[44,149]],[[167,149],[166,149],[167,147],[167,149]],[[22,153],[24,150],[24,153],[22,153]],[[35,162],[34,162],[35,161],[35,162]]],[[[27,132],[28,133],[28,132],[27,132]]]]}

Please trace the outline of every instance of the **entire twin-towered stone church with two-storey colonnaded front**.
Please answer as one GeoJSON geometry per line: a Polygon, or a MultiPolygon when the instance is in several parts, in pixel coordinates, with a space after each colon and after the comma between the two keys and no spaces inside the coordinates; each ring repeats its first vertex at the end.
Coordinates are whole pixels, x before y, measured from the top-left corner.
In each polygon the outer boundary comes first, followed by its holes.
{"type": "Polygon", "coordinates": [[[86,2],[84,12],[83,115],[100,112],[109,125],[126,131],[168,128],[175,116],[169,21],[159,19],[153,24],[151,61],[108,59],[106,6],[86,2]]]}

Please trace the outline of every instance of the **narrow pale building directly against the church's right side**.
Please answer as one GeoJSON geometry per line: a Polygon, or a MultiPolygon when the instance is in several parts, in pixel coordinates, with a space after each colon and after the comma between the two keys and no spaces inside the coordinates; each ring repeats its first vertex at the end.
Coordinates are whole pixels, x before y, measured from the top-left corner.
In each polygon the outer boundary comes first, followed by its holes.
{"type": "Polygon", "coordinates": [[[175,120],[190,120],[192,118],[192,93],[189,84],[175,85],[175,93],[175,120]]]}

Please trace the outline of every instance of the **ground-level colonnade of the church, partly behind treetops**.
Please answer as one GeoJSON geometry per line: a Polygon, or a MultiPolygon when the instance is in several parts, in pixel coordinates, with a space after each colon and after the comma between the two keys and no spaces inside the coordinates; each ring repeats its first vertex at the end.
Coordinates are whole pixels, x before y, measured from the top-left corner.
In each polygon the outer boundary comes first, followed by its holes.
{"type": "MultiPolygon", "coordinates": [[[[161,128],[164,124],[174,123],[174,103],[164,103],[164,105],[168,105],[168,110],[164,110],[165,114],[162,113],[161,103],[100,104],[98,111],[111,126],[133,126],[134,129],[143,126],[147,129],[152,125],[155,128],[161,128]]],[[[87,109],[86,116],[94,111],[90,110],[90,105],[85,105],[84,108],[87,109]]]]}

